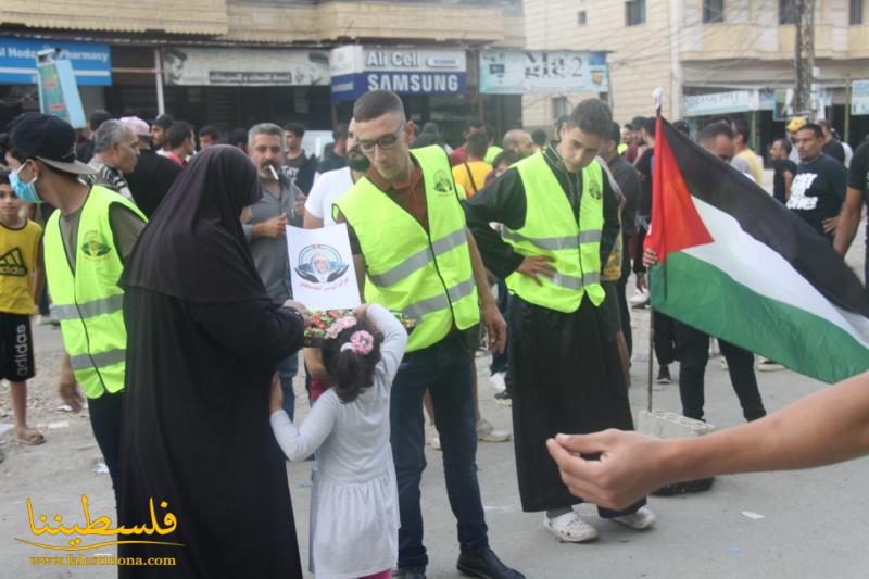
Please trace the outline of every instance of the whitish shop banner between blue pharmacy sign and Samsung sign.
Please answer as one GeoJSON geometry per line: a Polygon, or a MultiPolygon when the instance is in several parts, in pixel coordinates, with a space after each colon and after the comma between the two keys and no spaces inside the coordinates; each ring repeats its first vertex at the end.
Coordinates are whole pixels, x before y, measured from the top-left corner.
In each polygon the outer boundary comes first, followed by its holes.
{"type": "Polygon", "coordinates": [[[178,86],[327,86],[329,53],[319,50],[164,48],[163,80],[178,86]]]}

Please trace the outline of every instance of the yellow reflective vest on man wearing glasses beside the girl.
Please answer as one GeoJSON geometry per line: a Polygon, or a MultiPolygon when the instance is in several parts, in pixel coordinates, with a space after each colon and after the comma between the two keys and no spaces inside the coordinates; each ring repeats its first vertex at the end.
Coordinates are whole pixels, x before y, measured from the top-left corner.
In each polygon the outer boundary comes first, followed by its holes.
{"type": "Polygon", "coordinates": [[[411,154],[423,169],[428,232],[364,177],[335,206],[356,232],[377,302],[417,319],[407,342],[414,352],[442,340],[454,322],[458,329],[478,324],[480,310],[446,153],[432,146],[411,154]]]}

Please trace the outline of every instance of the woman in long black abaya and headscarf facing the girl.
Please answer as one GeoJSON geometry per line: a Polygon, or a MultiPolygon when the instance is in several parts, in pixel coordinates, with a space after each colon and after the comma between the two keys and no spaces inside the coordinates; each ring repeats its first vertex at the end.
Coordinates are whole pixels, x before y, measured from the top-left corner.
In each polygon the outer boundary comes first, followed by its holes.
{"type": "MultiPolygon", "coordinates": [[[[302,577],[285,460],[268,423],[275,364],[302,347],[298,310],[273,305],[239,216],[261,196],[253,163],[213,147],[185,168],[129,256],[121,517],[181,543],[121,545],[175,567],[123,576],[302,577]],[[161,503],[167,503],[165,507],[161,503]]],[[[299,312],[302,311],[302,313],[299,312]]]]}

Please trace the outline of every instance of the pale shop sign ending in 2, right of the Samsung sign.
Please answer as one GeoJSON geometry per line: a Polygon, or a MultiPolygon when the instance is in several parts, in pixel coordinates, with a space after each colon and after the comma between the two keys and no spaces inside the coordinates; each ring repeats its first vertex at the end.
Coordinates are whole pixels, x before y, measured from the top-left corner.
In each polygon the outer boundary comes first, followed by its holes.
{"type": "Polygon", "coordinates": [[[605,52],[487,50],[480,52],[480,92],[608,92],[605,52]]]}

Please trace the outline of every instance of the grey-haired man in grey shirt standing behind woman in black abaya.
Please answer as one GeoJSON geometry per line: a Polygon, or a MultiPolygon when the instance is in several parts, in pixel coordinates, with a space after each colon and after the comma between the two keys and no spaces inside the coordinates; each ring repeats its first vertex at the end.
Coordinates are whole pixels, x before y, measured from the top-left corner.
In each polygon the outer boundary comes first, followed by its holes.
{"type": "MultiPolygon", "coordinates": [[[[284,147],[284,131],[272,123],[254,125],[248,133],[248,154],[260,171],[263,197],[251,205],[251,219],[243,226],[244,235],[266,292],[276,304],[292,297],[286,232],[288,223],[301,225],[302,207],[298,200],[304,201],[302,191],[280,171],[286,154],[284,147]]],[[[291,354],[279,362],[275,370],[284,390],[284,410],[292,419],[295,410],[292,379],[299,372],[299,356],[291,354]]]]}

